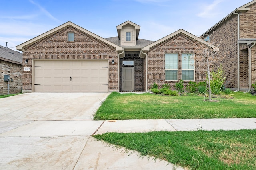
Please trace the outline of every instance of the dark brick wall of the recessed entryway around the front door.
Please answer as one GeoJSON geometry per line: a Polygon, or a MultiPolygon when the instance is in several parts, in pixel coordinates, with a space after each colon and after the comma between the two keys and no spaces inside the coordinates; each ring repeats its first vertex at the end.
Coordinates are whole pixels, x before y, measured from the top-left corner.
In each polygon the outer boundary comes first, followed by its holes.
{"type": "Polygon", "coordinates": [[[123,75],[123,61],[124,60],[133,60],[134,66],[134,91],[143,91],[143,64],[142,58],[139,57],[139,53],[134,54],[125,54],[124,58],[120,58],[120,87],[119,90],[122,91],[122,75],[123,75]]]}

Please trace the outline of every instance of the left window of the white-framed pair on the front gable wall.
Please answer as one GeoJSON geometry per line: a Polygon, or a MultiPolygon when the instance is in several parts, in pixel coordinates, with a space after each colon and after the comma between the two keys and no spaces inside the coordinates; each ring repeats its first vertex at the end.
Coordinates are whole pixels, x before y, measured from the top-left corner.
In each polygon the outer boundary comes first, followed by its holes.
{"type": "Polygon", "coordinates": [[[165,54],[165,80],[178,80],[178,53],[165,54]]]}

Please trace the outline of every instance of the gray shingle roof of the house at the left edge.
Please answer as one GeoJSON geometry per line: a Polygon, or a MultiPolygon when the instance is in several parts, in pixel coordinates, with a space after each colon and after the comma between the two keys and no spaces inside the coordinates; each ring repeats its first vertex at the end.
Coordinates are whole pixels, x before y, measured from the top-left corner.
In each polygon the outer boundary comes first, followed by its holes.
{"type": "Polygon", "coordinates": [[[22,64],[22,53],[0,45],[0,59],[16,64],[22,64]]]}

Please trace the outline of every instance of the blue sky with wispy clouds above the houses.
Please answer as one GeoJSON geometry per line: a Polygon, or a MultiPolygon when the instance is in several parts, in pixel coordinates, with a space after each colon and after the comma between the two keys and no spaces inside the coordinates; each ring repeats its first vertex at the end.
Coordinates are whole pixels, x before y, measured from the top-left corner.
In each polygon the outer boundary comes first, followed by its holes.
{"type": "Polygon", "coordinates": [[[16,50],[71,21],[100,37],[117,36],[116,26],[140,25],[140,39],[156,41],[184,29],[200,36],[251,0],[1,0],[0,45],[16,50]]]}

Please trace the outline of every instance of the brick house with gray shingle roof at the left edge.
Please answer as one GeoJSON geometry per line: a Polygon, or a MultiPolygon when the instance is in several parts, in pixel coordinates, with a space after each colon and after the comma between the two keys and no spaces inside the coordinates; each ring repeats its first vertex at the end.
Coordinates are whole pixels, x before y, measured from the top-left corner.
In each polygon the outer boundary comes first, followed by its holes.
{"type": "Polygon", "coordinates": [[[4,75],[10,76],[9,93],[20,93],[22,91],[22,53],[0,45],[0,94],[8,94],[8,82],[4,81],[4,75]]]}

